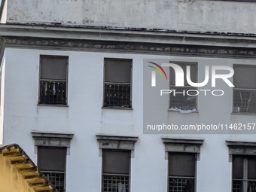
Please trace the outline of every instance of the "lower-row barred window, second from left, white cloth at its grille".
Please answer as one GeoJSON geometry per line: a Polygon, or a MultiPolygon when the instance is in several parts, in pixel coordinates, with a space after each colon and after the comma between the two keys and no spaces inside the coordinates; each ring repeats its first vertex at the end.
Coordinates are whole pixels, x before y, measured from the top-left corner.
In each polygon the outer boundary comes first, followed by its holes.
{"type": "Polygon", "coordinates": [[[130,191],[130,151],[103,151],[102,192],[130,191]]]}

